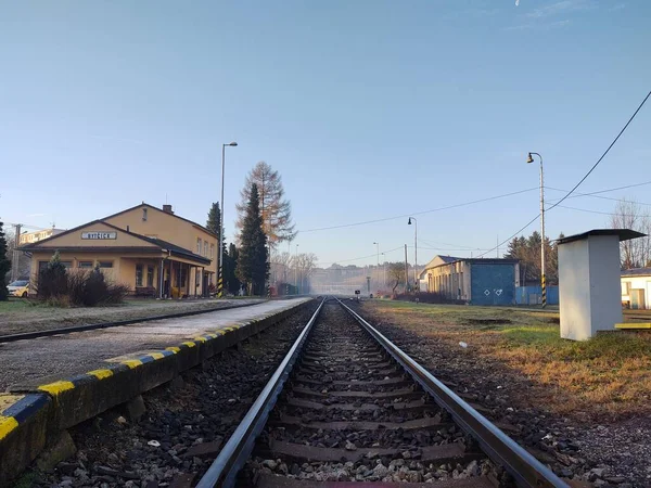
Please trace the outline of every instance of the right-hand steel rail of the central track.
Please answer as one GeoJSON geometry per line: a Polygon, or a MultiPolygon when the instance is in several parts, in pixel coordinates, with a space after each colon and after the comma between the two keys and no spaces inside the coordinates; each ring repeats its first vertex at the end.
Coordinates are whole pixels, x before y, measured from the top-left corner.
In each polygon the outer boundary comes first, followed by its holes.
{"type": "Polygon", "coordinates": [[[411,359],[399,347],[388,341],[357,312],[337,299],[357,322],[427,391],[436,402],[447,410],[452,420],[471,435],[482,450],[513,477],[521,487],[564,487],[569,485],[551,470],[497,428],[485,416],[469,406],[450,388],[436,380],[423,367],[411,359]]]}

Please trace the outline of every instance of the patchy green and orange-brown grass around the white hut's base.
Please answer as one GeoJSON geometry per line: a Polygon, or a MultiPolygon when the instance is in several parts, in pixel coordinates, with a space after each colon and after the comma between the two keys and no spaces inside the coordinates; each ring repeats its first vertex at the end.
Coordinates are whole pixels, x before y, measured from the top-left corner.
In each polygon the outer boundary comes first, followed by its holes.
{"type": "Polygon", "coordinates": [[[480,358],[502,363],[536,383],[551,411],[590,418],[635,415],[651,398],[651,334],[603,333],[590,341],[560,338],[558,312],[492,307],[367,303],[365,307],[406,330],[459,348],[463,341],[480,358]],[[488,321],[483,324],[480,321],[488,321]]]}

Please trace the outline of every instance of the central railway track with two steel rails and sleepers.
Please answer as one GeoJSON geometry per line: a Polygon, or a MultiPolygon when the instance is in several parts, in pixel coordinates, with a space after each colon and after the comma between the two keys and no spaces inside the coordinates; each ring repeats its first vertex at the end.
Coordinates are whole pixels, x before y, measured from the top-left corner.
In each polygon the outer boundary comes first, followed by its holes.
{"type": "Polygon", "coordinates": [[[329,299],[196,486],[567,485],[329,299]]]}

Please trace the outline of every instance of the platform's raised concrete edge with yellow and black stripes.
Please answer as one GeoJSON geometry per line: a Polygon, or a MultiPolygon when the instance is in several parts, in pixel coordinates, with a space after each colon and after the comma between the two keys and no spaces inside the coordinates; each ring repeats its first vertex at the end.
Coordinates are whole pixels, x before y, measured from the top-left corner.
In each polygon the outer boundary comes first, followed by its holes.
{"type": "Polygon", "coordinates": [[[125,357],[105,369],[72,378],[36,387],[11,387],[15,401],[10,400],[10,407],[0,409],[0,486],[24,471],[46,441],[60,431],[170,382],[180,372],[260,333],[309,303],[248,322],[233,323],[165,350],[125,357]]]}

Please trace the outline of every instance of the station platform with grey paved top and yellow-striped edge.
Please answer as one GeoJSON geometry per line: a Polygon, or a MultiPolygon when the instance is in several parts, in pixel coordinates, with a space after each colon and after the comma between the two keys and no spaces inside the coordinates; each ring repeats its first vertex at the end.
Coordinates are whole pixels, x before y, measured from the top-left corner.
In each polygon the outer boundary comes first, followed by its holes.
{"type": "Polygon", "coordinates": [[[59,433],[174,380],[311,298],[0,344],[0,486],[59,433]]]}

